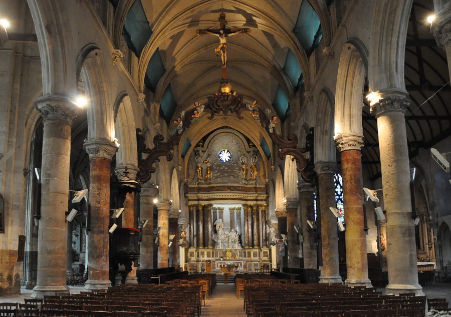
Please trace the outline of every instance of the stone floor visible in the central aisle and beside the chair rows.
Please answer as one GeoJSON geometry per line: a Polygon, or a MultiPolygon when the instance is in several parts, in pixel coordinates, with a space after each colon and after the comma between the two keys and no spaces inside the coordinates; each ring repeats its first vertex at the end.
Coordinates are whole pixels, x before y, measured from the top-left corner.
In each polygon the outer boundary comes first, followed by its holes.
{"type": "MultiPolygon", "coordinates": [[[[83,287],[71,286],[71,293],[80,293],[83,287]]],[[[381,289],[383,290],[383,288],[381,289]]],[[[446,298],[451,303],[451,283],[435,283],[423,287],[423,292],[427,298],[446,298]]],[[[24,302],[24,298],[29,298],[32,291],[22,289],[21,294],[0,296],[0,302],[24,302]]],[[[221,316],[221,317],[242,317],[243,299],[237,299],[235,296],[234,284],[217,284],[213,294],[206,300],[202,307],[201,316],[221,316]]]]}

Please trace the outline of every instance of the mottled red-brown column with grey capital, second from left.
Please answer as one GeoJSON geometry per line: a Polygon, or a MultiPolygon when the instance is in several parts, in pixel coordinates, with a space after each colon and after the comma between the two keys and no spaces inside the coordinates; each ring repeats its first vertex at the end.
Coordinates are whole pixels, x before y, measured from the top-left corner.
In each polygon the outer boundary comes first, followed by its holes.
{"type": "Polygon", "coordinates": [[[88,140],[83,145],[89,155],[90,228],[88,234],[88,280],[86,289],[107,289],[109,279],[110,170],[117,151],[113,142],[88,140]]]}

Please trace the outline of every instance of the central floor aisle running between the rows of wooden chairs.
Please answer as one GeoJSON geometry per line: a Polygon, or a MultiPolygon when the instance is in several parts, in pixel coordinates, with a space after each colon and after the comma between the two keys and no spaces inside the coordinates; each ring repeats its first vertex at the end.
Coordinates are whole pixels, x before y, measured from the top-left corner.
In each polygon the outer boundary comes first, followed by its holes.
{"type": "Polygon", "coordinates": [[[243,298],[235,296],[234,284],[217,284],[210,299],[205,301],[200,317],[246,316],[243,311],[243,298]]]}

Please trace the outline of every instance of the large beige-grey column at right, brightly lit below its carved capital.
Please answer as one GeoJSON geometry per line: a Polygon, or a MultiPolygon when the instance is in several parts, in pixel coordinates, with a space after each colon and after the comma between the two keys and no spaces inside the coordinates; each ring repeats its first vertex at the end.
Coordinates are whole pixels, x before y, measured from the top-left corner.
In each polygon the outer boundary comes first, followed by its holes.
{"type": "Polygon", "coordinates": [[[408,94],[387,91],[373,107],[379,134],[382,189],[386,215],[387,294],[414,292],[424,295],[418,284],[415,230],[410,200],[410,170],[404,111],[408,94]]]}

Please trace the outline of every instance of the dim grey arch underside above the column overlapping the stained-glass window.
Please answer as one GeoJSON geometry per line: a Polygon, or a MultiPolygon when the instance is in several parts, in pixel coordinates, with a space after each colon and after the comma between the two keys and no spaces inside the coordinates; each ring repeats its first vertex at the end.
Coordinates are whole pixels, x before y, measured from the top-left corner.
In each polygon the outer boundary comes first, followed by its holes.
{"type": "Polygon", "coordinates": [[[333,96],[329,89],[320,92],[318,112],[315,125],[315,164],[317,162],[335,162],[336,150],[334,144],[334,109],[333,96]]]}

